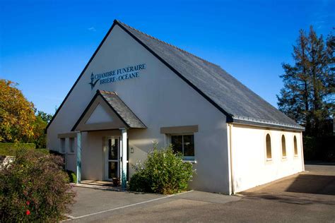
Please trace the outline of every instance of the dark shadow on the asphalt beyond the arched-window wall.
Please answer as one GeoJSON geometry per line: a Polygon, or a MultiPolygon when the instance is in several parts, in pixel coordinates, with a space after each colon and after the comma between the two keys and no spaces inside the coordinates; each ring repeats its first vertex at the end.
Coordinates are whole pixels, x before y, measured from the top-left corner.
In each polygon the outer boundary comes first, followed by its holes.
{"type": "Polygon", "coordinates": [[[335,176],[300,174],[286,191],[335,195],[335,176]]]}

